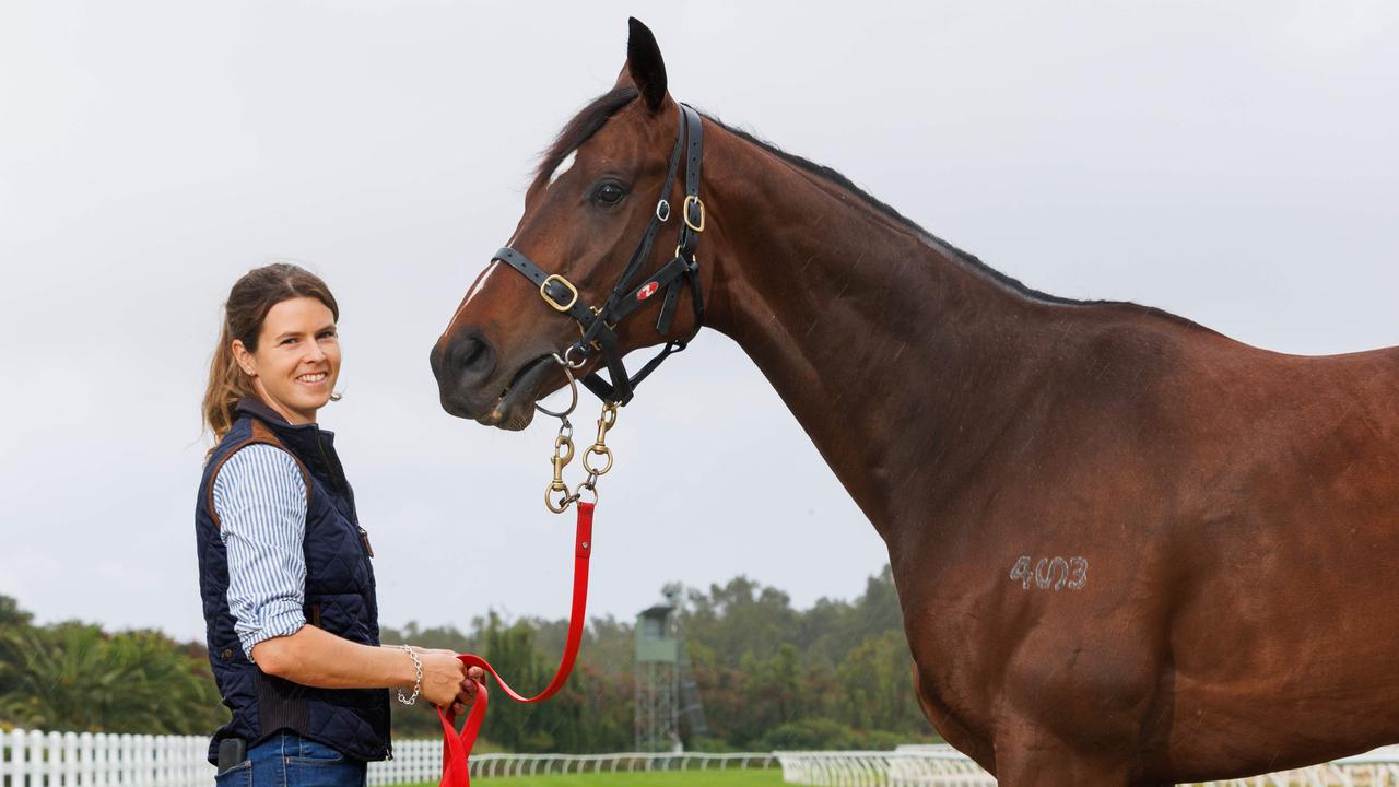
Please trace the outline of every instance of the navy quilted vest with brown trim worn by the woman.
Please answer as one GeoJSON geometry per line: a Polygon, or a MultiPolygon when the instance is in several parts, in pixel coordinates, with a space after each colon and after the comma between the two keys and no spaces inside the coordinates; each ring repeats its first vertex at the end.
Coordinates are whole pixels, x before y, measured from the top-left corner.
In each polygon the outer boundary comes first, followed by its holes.
{"type": "Polygon", "coordinates": [[[199,590],[204,598],[208,662],[224,704],[234,718],[214,734],[218,742],[242,738],[248,748],[280,730],[291,730],[361,760],[392,758],[389,692],[386,689],[316,689],[264,674],[248,660],[228,611],[228,555],[214,515],[214,476],[239,448],[252,443],[277,445],[301,465],[306,480],[306,622],[332,634],[379,644],[379,605],[374,592],[368,534],[354,511],[333,436],[316,424],[291,426],[256,399],[238,403],[239,419],[204,466],[194,508],[199,546],[199,590]]]}

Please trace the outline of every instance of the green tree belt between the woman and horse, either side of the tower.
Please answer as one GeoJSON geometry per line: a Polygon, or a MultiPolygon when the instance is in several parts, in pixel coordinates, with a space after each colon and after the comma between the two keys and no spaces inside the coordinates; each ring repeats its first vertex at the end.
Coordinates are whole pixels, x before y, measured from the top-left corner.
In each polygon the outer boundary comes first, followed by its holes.
{"type": "MultiPolygon", "coordinates": [[[[456,629],[385,629],[385,641],[456,651],[480,648],[520,692],[540,690],[564,648],[567,620],[497,615],[456,629]]],[[[698,683],[709,751],[890,748],[933,739],[912,692],[911,658],[888,567],[853,599],[823,598],[807,611],[747,577],[691,590],[680,613],[698,683]]],[[[632,742],[634,636],[630,623],[595,618],[568,685],[547,703],[520,706],[492,689],[483,738],[513,751],[597,752],[632,742]]],[[[436,735],[434,713],[395,710],[395,734],[436,735]],[[402,718],[402,720],[400,720],[402,718]],[[407,723],[404,723],[407,721],[407,723]]],[[[483,744],[490,745],[490,744],[483,744]]]]}

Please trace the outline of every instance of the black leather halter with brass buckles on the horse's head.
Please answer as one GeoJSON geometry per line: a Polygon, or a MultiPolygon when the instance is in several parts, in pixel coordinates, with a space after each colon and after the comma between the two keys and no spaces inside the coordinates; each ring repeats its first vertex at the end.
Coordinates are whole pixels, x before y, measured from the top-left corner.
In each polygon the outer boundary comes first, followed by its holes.
{"type": "Polygon", "coordinates": [[[616,405],[630,402],[637,385],[642,379],[646,379],[651,372],[656,371],[656,367],[672,353],[684,350],[695,337],[695,333],[700,332],[700,326],[704,322],[704,295],[700,291],[700,260],[694,253],[695,244],[700,242],[700,232],[704,231],[704,203],[700,202],[700,158],[704,153],[702,143],[700,113],[681,104],[680,133],[676,137],[676,147],[670,153],[670,169],[666,172],[666,183],[660,188],[660,199],[656,202],[656,210],[646,225],[646,231],[641,235],[631,260],[602,307],[595,308],[583,304],[579,298],[578,287],[568,279],[557,273],[546,273],[544,269],[530,262],[520,252],[509,246],[495,252],[494,260],[509,265],[539,286],[539,294],[544,298],[544,302],[555,311],[561,311],[578,321],[583,336],[564,353],[562,358],[567,360],[575,353],[581,358],[588,358],[593,353],[602,353],[611,381],[609,382],[593,372],[583,378],[583,385],[603,402],[616,405]],[[680,209],[680,242],[676,245],[676,255],[649,279],[637,287],[631,287],[631,280],[637,276],[637,270],[651,256],[656,232],[670,218],[670,189],[674,186],[676,174],[680,171],[681,154],[686,158],[686,199],[680,209]],[[694,300],[694,329],[684,339],[667,339],[666,346],[659,354],[646,361],[646,365],[641,371],[628,375],[627,367],[623,365],[621,351],[617,347],[617,325],[642,304],[648,302],[652,295],[665,290],[660,315],[656,319],[656,330],[665,336],[670,332],[670,323],[676,316],[676,304],[680,300],[680,288],[686,283],[690,284],[690,295],[694,300]]]}

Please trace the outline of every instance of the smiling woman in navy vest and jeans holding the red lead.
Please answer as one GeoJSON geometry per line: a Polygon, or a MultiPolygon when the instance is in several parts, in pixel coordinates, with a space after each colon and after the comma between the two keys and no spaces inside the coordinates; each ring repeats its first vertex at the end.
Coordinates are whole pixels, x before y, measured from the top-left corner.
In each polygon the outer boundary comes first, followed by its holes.
{"type": "Polygon", "coordinates": [[[379,644],[374,550],[316,426],[340,374],[325,281],[259,267],[224,311],[194,525],[208,661],[234,717],[208,759],[221,787],[362,786],[368,760],[393,756],[383,689],[460,710],[476,683],[450,651],[379,644]]]}

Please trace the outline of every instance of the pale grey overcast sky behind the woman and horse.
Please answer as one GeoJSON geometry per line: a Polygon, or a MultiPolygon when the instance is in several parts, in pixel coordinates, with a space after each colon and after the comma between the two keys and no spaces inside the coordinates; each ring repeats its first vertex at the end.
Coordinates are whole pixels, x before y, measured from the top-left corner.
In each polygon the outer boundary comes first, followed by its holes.
{"type": "MultiPolygon", "coordinates": [[[[382,620],[562,616],[550,424],[449,417],[427,354],[534,155],[611,85],[631,13],[674,97],[1032,287],[1290,353],[1399,343],[1395,3],[7,1],[0,592],[43,622],[203,637],[218,307],[246,269],[294,260],[341,304],[346,398],[322,423],[382,620]]],[[[595,613],[740,573],[806,606],[886,560],[713,332],[609,443],[595,613]]]]}

